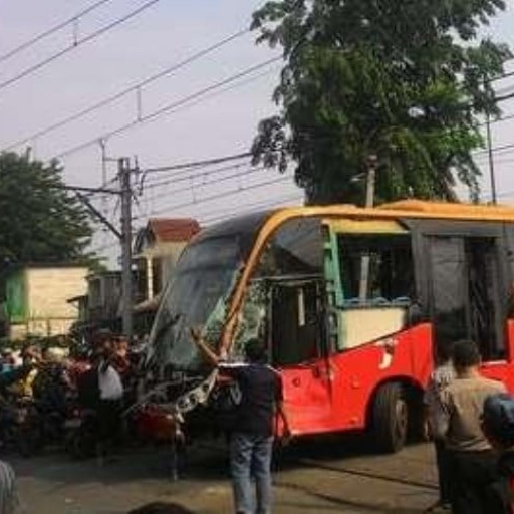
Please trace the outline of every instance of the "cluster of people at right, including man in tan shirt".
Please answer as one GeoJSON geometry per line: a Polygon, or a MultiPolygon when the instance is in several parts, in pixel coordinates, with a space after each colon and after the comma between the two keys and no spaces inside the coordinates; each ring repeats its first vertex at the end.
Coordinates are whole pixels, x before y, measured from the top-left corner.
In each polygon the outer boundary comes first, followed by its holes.
{"type": "Polygon", "coordinates": [[[439,474],[434,510],[512,514],[514,397],[480,373],[472,341],[446,345],[439,359],[425,397],[439,474]]]}

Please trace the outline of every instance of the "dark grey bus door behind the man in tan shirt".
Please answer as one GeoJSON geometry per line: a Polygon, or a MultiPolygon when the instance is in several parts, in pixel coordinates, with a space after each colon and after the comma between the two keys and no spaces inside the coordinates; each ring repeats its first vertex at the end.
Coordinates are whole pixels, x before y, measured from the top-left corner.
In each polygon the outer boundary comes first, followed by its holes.
{"type": "Polygon", "coordinates": [[[476,341],[483,373],[510,388],[499,238],[429,236],[427,243],[436,346],[476,341]]]}

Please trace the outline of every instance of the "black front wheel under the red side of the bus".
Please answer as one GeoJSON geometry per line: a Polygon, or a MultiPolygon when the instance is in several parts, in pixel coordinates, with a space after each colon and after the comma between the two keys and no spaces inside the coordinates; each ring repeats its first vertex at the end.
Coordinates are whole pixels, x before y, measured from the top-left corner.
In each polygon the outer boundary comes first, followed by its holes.
{"type": "Polygon", "coordinates": [[[386,383],[375,396],[372,413],[377,449],[395,453],[405,446],[409,435],[409,403],[399,383],[386,383]]]}

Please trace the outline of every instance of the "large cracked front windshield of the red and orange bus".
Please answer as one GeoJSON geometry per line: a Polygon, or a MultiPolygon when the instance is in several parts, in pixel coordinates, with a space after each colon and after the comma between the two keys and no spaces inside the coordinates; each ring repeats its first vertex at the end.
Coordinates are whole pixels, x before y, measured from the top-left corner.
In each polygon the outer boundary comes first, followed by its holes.
{"type": "Polygon", "coordinates": [[[155,364],[180,371],[199,368],[190,327],[203,327],[206,340],[218,343],[228,300],[259,227],[247,223],[244,231],[235,232],[215,228],[185,250],[152,331],[150,358],[155,364]]]}

